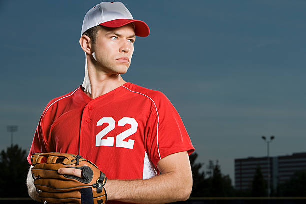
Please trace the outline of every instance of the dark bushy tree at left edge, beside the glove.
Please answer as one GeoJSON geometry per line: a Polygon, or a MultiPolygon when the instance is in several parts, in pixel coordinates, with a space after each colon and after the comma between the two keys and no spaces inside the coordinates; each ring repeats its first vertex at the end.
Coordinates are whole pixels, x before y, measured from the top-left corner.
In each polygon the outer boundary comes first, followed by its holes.
{"type": "Polygon", "coordinates": [[[28,197],[26,176],[29,164],[26,150],[17,144],[0,154],[0,197],[28,197]]]}

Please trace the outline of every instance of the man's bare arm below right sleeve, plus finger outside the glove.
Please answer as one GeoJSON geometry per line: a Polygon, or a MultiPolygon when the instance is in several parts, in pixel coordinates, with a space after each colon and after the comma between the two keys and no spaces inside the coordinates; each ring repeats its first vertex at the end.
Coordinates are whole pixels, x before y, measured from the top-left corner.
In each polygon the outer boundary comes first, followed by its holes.
{"type": "MultiPolygon", "coordinates": [[[[147,180],[107,180],[108,200],[154,204],[188,199],[192,190],[188,153],[170,154],[159,160],[157,168],[162,174],[147,180]]],[[[60,168],[58,173],[82,177],[82,170],[76,168],[60,168]]]]}

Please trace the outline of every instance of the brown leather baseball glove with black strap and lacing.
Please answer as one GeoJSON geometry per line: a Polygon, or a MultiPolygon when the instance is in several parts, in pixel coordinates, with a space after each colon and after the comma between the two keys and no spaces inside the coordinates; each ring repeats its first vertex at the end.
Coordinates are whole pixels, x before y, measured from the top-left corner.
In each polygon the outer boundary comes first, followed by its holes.
{"type": "Polygon", "coordinates": [[[34,153],[31,157],[34,185],[41,202],[104,204],[105,174],[82,156],[69,153],[34,153]],[[59,168],[77,168],[82,177],[62,175],[59,168]]]}

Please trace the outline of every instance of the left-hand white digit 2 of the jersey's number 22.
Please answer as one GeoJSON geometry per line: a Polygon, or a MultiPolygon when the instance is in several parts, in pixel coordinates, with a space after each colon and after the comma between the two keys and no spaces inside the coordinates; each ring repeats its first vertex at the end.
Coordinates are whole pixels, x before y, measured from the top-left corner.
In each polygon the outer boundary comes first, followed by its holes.
{"type": "Polygon", "coordinates": [[[96,126],[102,126],[104,123],[108,123],[108,126],[100,131],[95,137],[95,146],[113,146],[114,138],[112,136],[107,137],[107,139],[102,139],[108,132],[114,129],[116,121],[112,117],[103,117],[100,119],[96,126]]]}

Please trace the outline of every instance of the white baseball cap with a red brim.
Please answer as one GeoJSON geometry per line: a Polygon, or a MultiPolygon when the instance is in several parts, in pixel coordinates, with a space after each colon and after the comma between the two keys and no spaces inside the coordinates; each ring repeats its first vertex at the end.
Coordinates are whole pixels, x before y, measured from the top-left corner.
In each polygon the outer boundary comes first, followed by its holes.
{"type": "Polygon", "coordinates": [[[148,25],[141,20],[134,20],[131,13],[121,2],[101,2],[91,8],[85,15],[81,35],[97,25],[121,27],[133,23],[135,35],[146,37],[150,33],[148,25]]]}

